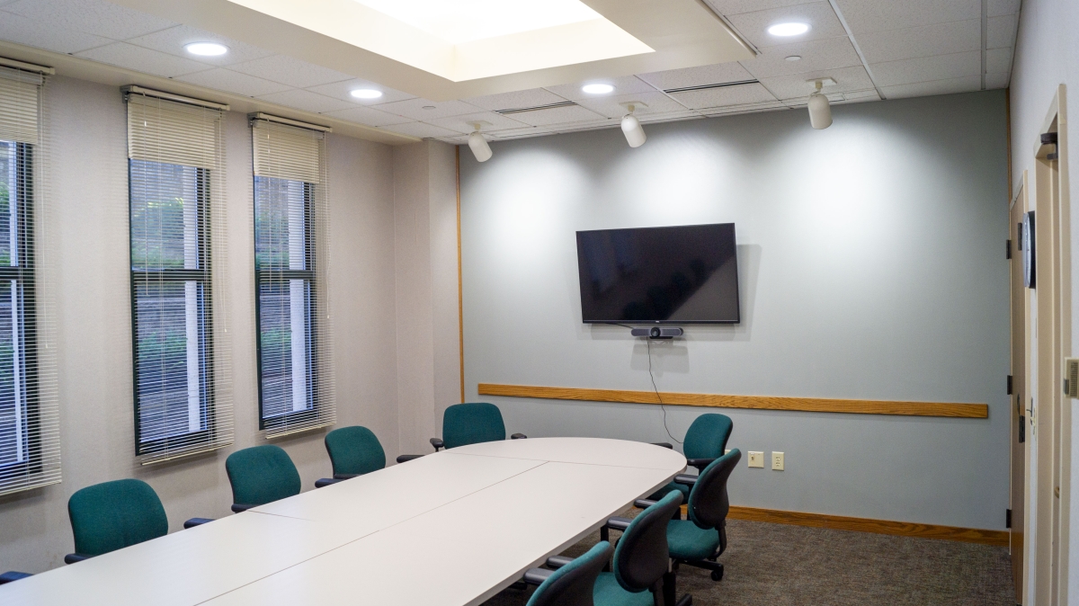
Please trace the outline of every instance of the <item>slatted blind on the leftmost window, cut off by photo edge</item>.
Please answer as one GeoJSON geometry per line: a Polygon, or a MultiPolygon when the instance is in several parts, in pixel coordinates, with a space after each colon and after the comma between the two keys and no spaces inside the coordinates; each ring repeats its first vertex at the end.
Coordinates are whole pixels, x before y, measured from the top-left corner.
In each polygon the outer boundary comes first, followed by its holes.
{"type": "Polygon", "coordinates": [[[0,67],[0,495],[60,481],[44,84],[0,67]]]}

